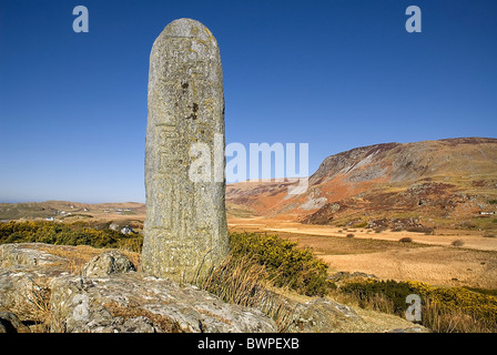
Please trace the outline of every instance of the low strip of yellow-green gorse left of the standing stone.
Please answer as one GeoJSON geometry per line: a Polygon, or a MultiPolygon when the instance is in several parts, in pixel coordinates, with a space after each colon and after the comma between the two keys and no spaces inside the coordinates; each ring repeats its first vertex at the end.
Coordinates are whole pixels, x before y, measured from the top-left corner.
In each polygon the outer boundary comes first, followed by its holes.
{"type": "Polygon", "coordinates": [[[55,222],[9,222],[0,223],[0,244],[6,243],[48,243],[93,247],[120,247],[123,244],[132,244],[140,250],[142,237],[112,230],[99,231],[55,222]]]}

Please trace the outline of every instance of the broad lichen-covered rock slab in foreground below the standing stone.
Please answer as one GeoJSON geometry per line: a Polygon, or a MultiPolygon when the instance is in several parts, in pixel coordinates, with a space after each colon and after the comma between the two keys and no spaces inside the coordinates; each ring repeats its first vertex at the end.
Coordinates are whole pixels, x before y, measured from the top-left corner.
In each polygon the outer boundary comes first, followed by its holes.
{"type": "Polygon", "coordinates": [[[51,284],[53,329],[64,332],[275,332],[256,310],[226,304],[191,285],[136,273],[64,276],[51,284]]]}

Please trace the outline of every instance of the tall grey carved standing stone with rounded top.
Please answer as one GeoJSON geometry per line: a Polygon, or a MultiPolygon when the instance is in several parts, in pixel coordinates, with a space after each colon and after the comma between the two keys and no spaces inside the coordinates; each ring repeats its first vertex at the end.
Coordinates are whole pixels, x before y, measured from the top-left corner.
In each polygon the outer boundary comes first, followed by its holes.
{"type": "Polygon", "coordinates": [[[145,274],[193,282],[227,255],[224,145],[217,42],[202,23],[175,20],[150,55],[145,274]],[[191,179],[199,161],[209,179],[191,179]]]}

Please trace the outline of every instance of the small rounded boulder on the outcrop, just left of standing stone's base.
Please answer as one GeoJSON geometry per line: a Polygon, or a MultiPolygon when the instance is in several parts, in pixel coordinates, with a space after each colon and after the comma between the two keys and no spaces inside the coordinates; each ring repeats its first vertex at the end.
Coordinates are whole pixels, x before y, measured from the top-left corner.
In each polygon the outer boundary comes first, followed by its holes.
{"type": "Polygon", "coordinates": [[[136,271],[133,263],[119,251],[109,251],[97,255],[81,268],[82,275],[87,277],[104,277],[133,271],[136,271]]]}

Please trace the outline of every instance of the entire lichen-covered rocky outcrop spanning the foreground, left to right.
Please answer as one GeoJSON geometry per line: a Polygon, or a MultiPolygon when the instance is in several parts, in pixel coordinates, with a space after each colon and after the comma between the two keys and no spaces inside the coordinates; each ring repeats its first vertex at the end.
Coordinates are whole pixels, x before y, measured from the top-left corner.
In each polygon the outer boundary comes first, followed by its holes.
{"type": "Polygon", "coordinates": [[[74,272],[68,255],[77,251],[39,243],[0,245],[0,333],[29,332],[23,323],[69,333],[410,332],[414,326],[398,317],[389,327],[372,326],[332,300],[281,295],[290,312],[285,326],[276,326],[264,306],[229,304],[196,286],[143,275],[118,251],[104,251],[74,272]]]}

